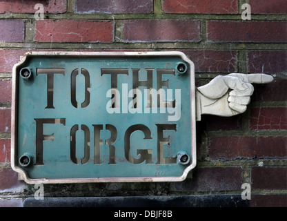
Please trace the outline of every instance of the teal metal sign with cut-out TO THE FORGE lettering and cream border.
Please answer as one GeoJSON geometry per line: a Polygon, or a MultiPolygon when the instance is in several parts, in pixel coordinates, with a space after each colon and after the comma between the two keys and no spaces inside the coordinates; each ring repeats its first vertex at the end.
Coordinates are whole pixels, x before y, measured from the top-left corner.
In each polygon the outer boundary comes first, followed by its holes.
{"type": "Polygon", "coordinates": [[[12,169],[28,183],[181,181],[196,164],[181,52],[28,52],[13,68],[12,169]]]}

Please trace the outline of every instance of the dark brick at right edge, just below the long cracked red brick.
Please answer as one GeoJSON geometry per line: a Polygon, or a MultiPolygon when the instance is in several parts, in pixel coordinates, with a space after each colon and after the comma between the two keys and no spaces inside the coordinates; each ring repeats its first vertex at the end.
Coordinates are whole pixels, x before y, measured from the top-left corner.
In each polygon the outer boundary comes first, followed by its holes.
{"type": "Polygon", "coordinates": [[[251,177],[252,189],[287,189],[287,167],[255,166],[251,177]]]}

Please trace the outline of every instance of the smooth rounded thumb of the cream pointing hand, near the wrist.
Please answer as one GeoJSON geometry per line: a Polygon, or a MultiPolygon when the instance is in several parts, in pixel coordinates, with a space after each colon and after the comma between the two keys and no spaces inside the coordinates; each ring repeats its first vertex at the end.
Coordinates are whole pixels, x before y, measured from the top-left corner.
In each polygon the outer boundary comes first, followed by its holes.
{"type": "Polygon", "coordinates": [[[212,79],[208,84],[197,88],[204,96],[211,99],[222,97],[228,91],[228,86],[224,81],[224,76],[218,75],[212,79]]]}

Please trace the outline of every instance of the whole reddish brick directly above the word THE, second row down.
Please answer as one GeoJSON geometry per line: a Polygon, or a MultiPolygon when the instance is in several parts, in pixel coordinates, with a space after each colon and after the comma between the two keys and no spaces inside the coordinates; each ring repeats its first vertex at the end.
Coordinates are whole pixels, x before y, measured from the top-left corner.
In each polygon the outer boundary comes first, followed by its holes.
{"type": "Polygon", "coordinates": [[[199,41],[195,20],[125,20],[124,41],[199,41]]]}

